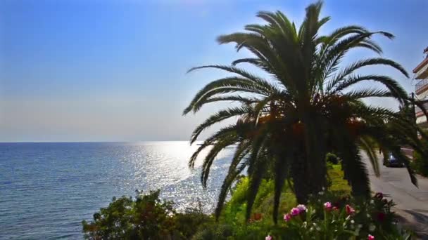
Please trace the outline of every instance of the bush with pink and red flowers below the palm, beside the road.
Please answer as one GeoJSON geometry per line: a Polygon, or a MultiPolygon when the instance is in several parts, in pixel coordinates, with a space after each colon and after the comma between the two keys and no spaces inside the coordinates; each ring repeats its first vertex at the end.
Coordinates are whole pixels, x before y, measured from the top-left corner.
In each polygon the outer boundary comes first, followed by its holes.
{"type": "Polygon", "coordinates": [[[317,197],[308,207],[292,208],[284,215],[284,226],[270,234],[275,239],[367,239],[369,235],[376,239],[410,238],[396,226],[391,212],[394,203],[384,199],[382,193],[363,203],[351,198],[321,199],[317,197]]]}

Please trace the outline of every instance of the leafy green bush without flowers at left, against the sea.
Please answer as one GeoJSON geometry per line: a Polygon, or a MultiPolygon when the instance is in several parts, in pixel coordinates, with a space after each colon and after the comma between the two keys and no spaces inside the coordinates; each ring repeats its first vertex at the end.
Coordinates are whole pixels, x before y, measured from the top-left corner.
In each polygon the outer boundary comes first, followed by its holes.
{"type": "Polygon", "coordinates": [[[137,197],[113,198],[107,208],[82,221],[85,239],[189,239],[211,221],[199,208],[176,213],[171,201],[161,201],[159,190],[137,197]]]}

